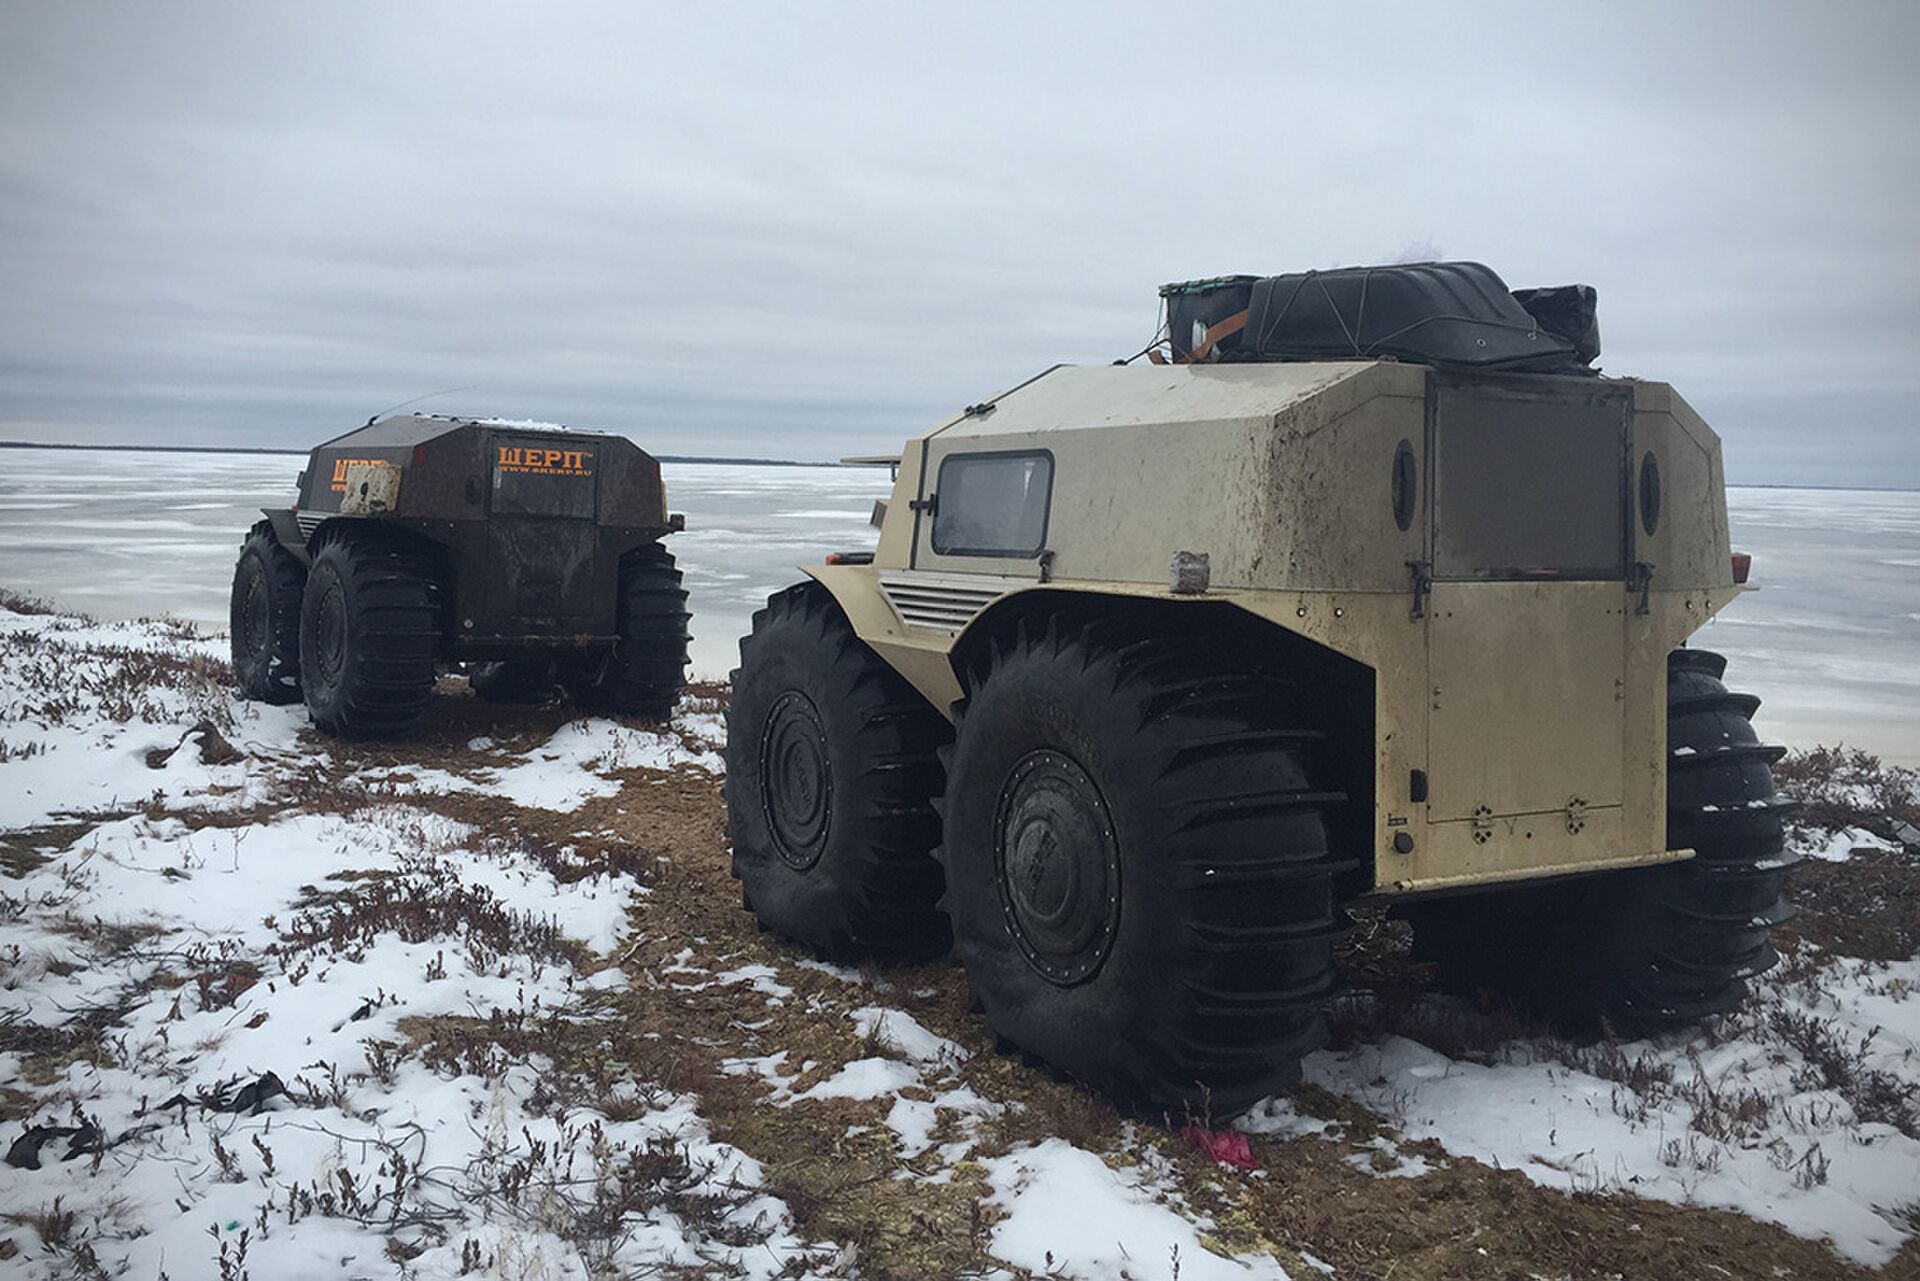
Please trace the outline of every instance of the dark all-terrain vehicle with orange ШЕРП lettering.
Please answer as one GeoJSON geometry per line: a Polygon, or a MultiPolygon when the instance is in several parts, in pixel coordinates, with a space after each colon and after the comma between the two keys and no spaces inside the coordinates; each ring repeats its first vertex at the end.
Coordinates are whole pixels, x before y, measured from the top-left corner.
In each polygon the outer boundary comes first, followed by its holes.
{"type": "Polygon", "coordinates": [[[442,665],[480,697],[564,688],[660,718],[680,701],[687,593],[660,540],[660,465],[622,436],[388,417],[313,449],[298,503],[240,545],[240,691],[305,699],[330,734],[413,728],[442,665]]]}

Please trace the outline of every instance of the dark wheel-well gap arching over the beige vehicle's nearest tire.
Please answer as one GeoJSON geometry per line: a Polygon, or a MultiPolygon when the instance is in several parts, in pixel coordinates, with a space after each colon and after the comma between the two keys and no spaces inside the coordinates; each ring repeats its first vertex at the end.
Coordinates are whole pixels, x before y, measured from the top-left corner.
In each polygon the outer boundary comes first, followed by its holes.
{"type": "Polygon", "coordinates": [[[1162,601],[1096,592],[1020,592],[981,613],[960,636],[948,659],[962,693],[979,672],[996,640],[1012,636],[1027,618],[1050,613],[1112,618],[1123,615],[1146,626],[1192,638],[1196,645],[1252,645],[1271,653],[1300,688],[1302,718],[1327,734],[1319,753],[1319,786],[1346,793],[1346,803],[1327,810],[1332,849],[1359,866],[1338,878],[1342,899],[1373,889],[1373,776],[1375,776],[1375,680],[1373,668],[1327,649],[1298,632],[1250,615],[1229,601],[1162,601]]]}

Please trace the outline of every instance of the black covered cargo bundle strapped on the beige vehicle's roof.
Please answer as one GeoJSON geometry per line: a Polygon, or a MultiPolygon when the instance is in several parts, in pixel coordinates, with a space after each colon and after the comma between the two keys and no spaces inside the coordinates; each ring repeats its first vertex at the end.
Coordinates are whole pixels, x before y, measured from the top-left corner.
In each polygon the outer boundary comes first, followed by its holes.
{"type": "Polygon", "coordinates": [[[1592,286],[1513,292],[1480,263],[1221,277],[1167,284],[1160,296],[1179,361],[1394,357],[1592,375],[1599,355],[1592,286]]]}

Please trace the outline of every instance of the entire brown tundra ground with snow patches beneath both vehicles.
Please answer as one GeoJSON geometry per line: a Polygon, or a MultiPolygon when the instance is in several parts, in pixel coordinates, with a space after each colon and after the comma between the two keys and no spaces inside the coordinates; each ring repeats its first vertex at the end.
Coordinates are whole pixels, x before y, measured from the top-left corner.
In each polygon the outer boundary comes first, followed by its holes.
{"type": "Polygon", "coordinates": [[[1786,962],[1695,1035],[1440,995],[1361,912],[1233,1127],[995,1049],[728,876],[716,737],[313,737],[221,641],[0,599],[0,1266],[25,1277],[1920,1275],[1920,780],[1805,801],[1786,962]]]}

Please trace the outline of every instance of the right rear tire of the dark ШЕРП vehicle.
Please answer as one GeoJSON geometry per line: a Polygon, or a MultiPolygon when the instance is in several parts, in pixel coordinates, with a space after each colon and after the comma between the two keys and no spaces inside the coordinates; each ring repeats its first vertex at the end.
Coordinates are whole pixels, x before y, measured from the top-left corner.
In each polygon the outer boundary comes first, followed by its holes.
{"type": "Polygon", "coordinates": [[[643,544],[620,557],[620,640],[576,668],[566,686],[582,707],[666,720],[687,684],[687,590],[674,555],[643,544]]]}

